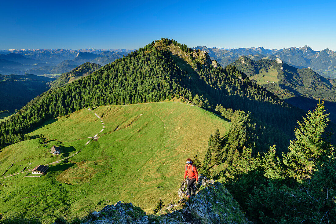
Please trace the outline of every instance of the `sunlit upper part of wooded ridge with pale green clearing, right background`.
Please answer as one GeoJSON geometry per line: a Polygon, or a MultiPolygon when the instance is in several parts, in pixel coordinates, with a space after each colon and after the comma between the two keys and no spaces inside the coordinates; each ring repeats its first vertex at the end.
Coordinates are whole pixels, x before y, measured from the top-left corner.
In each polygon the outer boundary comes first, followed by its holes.
{"type": "MultiPolygon", "coordinates": [[[[336,88],[330,79],[326,79],[309,68],[298,69],[277,60],[253,61],[245,56],[232,64],[247,74],[250,79],[271,90],[278,83],[296,96],[312,99],[324,99],[336,102],[336,88]]],[[[280,95],[279,95],[280,96],[280,95]]]]}

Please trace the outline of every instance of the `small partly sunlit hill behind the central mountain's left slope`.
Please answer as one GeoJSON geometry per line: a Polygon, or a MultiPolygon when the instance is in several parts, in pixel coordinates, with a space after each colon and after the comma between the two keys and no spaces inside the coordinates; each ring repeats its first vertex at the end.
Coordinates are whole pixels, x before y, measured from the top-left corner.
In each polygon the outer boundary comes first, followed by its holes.
{"type": "Polygon", "coordinates": [[[91,62],[84,63],[83,65],[78,66],[77,68],[75,68],[70,72],[61,74],[55,81],[51,83],[52,84],[51,88],[63,86],[79,78],[83,78],[91,74],[92,72],[97,71],[100,68],[101,66],[95,63],[91,62]]]}

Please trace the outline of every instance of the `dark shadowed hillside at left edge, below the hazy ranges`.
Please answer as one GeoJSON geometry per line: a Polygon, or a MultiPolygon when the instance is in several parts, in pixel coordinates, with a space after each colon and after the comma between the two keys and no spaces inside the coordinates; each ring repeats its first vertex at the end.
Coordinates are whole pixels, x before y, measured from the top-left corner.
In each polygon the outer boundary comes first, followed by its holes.
{"type": "Polygon", "coordinates": [[[14,112],[25,106],[29,101],[47,91],[47,82],[54,79],[26,75],[0,75],[0,110],[14,112]]]}

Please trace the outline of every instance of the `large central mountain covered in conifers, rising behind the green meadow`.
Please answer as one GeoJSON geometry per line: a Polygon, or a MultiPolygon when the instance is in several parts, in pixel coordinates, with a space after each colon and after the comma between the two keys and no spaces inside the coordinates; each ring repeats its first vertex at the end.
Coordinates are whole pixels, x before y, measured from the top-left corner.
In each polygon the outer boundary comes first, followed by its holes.
{"type": "MultiPolygon", "coordinates": [[[[165,46],[174,44],[184,54],[192,53],[190,48],[174,40],[156,42],[165,46]]],[[[280,151],[286,150],[296,120],[303,111],[249,81],[233,66],[205,66],[197,57],[192,58],[190,65],[174,57],[165,50],[167,48],[155,47],[154,44],[33,99],[16,115],[1,123],[1,146],[15,142],[12,135],[23,135],[47,119],[91,105],[158,102],[177,95],[204,108],[215,109],[219,105],[228,109],[232,113],[224,114],[227,119],[232,118],[235,110],[242,111],[243,115],[237,122],[243,123],[248,138],[240,144],[251,143],[255,151],[266,151],[276,143],[280,151]]]]}

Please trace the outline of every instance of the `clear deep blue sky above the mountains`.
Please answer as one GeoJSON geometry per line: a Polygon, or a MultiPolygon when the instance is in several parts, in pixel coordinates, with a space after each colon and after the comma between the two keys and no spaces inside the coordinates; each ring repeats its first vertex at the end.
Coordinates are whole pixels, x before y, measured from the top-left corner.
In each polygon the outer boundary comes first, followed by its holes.
{"type": "Polygon", "coordinates": [[[1,0],[0,49],[190,47],[336,51],[336,1],[1,0]]]}

